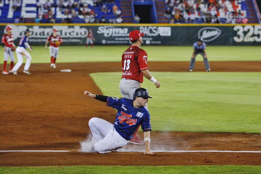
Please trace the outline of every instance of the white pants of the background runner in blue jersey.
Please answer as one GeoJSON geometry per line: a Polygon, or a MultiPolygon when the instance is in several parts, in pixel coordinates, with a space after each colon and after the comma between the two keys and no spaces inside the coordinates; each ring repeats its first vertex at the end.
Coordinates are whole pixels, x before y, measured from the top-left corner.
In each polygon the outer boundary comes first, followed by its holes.
{"type": "Polygon", "coordinates": [[[25,63],[25,67],[23,69],[28,71],[28,69],[31,65],[31,60],[32,60],[31,55],[23,47],[17,47],[15,52],[16,52],[16,55],[17,55],[18,62],[15,64],[13,70],[17,71],[20,68],[20,66],[23,64],[23,55],[24,55],[25,58],[26,58],[26,63],[25,63]]]}

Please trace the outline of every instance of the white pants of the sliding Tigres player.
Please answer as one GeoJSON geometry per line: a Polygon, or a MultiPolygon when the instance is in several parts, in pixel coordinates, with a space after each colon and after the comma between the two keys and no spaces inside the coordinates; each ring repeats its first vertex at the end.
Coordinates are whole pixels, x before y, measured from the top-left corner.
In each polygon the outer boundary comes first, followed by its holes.
{"type": "Polygon", "coordinates": [[[114,125],[106,120],[96,117],[91,118],[89,127],[94,140],[97,141],[93,146],[96,152],[118,152],[120,148],[128,143],[128,141],[115,130],[114,125]]]}

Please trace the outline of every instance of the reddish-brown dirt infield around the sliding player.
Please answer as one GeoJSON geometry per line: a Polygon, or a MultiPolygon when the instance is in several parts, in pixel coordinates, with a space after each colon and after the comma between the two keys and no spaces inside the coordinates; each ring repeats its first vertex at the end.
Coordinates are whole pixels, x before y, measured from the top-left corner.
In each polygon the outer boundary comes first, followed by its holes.
{"type": "MultiPolygon", "coordinates": [[[[150,71],[186,72],[188,63],[150,62],[149,67],[150,71]]],[[[260,61],[210,62],[210,65],[213,72],[261,72],[260,61]]],[[[49,64],[32,64],[31,75],[22,72],[23,66],[18,76],[0,74],[0,151],[71,152],[0,152],[0,166],[261,165],[261,153],[158,152],[154,156],[145,156],[142,152],[76,152],[80,148],[79,142],[90,132],[90,118],[99,117],[111,123],[115,118],[114,109],[97,100],[86,100],[83,95],[87,89],[101,94],[89,73],[121,71],[121,63],[57,63],[56,69],[51,69],[49,64]],[[60,72],[65,68],[72,72],[60,72]]],[[[203,62],[197,62],[194,71],[204,71],[203,62]]],[[[142,137],[142,133],[139,134],[142,137]]],[[[261,149],[260,134],[243,132],[151,132],[151,137],[151,149],[154,150],[261,149]]],[[[139,150],[144,146],[127,145],[126,148],[139,150]]]]}

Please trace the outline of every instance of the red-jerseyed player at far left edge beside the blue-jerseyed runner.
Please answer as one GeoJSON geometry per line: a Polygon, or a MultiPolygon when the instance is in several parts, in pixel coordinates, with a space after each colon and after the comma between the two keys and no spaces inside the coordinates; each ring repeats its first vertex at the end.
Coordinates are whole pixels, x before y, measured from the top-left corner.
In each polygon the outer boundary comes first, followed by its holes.
{"type": "Polygon", "coordinates": [[[12,73],[11,70],[13,69],[13,66],[14,66],[15,44],[13,43],[14,37],[13,37],[13,34],[11,33],[12,29],[13,28],[11,28],[11,27],[7,27],[6,28],[7,33],[2,36],[2,45],[3,45],[3,51],[4,51],[4,67],[3,67],[2,74],[12,73]],[[12,50],[12,47],[13,47],[13,50],[12,50]],[[11,60],[9,72],[6,71],[6,64],[7,64],[7,61],[8,61],[8,56],[10,56],[10,60],[11,60]]]}

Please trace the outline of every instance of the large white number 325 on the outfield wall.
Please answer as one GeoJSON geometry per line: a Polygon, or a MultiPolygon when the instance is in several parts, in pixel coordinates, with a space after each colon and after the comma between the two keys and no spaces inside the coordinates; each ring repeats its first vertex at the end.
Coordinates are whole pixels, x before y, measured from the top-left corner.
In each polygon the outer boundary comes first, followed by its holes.
{"type": "Polygon", "coordinates": [[[261,42],[261,25],[237,25],[233,28],[237,36],[233,37],[235,42],[261,42]]]}

